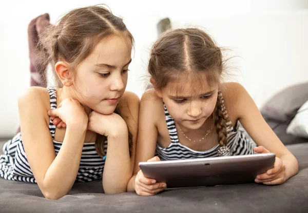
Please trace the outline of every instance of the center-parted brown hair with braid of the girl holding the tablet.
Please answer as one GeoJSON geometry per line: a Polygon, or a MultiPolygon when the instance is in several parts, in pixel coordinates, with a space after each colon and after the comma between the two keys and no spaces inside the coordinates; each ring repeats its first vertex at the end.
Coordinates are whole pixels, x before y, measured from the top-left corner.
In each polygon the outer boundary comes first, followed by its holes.
{"type": "MultiPolygon", "coordinates": [[[[220,84],[224,62],[221,49],[206,32],[197,28],[175,29],[165,32],[153,45],[148,72],[157,89],[177,81],[179,76],[198,80],[198,73],[206,73],[207,83],[212,86],[220,84]]],[[[226,146],[228,115],[220,90],[212,115],[218,142],[226,146]]]]}

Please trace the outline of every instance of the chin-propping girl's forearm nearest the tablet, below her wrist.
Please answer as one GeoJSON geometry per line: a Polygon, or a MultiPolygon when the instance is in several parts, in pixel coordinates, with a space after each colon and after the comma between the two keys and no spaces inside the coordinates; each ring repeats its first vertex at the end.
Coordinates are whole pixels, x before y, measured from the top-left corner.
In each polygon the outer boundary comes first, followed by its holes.
{"type": "Polygon", "coordinates": [[[125,192],[132,175],[128,148],[128,132],[118,136],[108,136],[107,157],[103,173],[105,193],[125,192]]]}

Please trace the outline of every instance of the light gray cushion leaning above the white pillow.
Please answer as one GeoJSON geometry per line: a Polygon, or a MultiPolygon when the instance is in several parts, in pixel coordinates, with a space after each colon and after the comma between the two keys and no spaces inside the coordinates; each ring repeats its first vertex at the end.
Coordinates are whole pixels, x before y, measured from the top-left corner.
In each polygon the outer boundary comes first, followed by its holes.
{"type": "Polygon", "coordinates": [[[292,119],[308,100],[308,83],[288,87],[275,94],[262,108],[264,118],[285,121],[292,119]]]}

